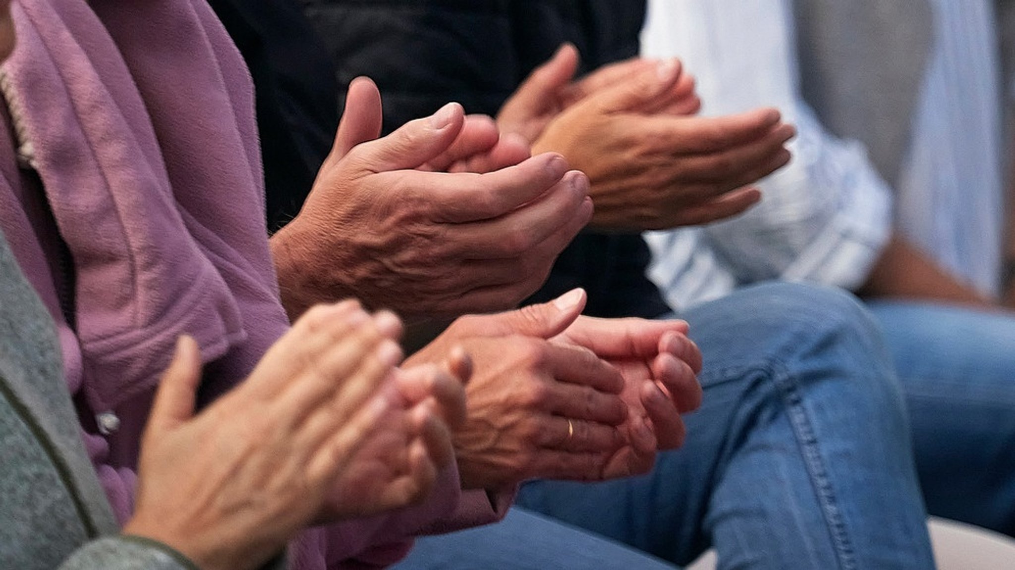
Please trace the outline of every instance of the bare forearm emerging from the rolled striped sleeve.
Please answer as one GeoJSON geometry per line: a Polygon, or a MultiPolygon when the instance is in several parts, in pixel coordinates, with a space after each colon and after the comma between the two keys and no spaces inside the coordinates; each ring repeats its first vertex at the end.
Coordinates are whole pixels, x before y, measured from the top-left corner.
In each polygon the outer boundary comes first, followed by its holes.
{"type": "Polygon", "coordinates": [[[864,297],[922,299],[994,306],[990,299],[960,283],[904,238],[893,235],[857,291],[864,297]]]}

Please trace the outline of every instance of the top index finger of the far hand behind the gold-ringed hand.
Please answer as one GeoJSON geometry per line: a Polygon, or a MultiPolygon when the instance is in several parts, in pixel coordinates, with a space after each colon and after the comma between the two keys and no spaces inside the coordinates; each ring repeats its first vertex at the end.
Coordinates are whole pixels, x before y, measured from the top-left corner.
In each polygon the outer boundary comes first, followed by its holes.
{"type": "Polygon", "coordinates": [[[680,319],[581,316],[560,340],[586,347],[600,358],[642,360],[659,353],[665,335],[687,331],[687,323],[680,319]]]}

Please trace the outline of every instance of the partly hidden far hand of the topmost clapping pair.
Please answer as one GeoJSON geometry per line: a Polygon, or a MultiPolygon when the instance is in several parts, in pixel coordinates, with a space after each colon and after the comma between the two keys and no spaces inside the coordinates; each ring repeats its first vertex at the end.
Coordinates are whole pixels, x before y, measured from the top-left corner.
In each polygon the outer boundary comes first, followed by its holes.
{"type": "MultiPolygon", "coordinates": [[[[576,102],[635,78],[658,65],[655,60],[634,58],[603,66],[580,81],[573,81],[579,54],[574,46],[564,44],[545,64],[538,67],[500,108],[497,126],[503,133],[517,133],[530,143],[542,135],[546,126],[576,102]]],[[[653,101],[642,113],[665,112],[675,115],[697,113],[701,101],[694,94],[694,79],[686,74],[674,83],[668,96],[653,101]]]]}

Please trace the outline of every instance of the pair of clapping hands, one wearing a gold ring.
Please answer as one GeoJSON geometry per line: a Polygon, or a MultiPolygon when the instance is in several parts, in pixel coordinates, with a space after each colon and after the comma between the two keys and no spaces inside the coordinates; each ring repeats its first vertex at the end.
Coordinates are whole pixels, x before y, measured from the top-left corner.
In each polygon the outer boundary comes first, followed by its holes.
{"type": "Polygon", "coordinates": [[[700,401],[686,325],[582,317],[585,300],[576,290],[462,317],[409,359],[438,358],[450,344],[473,358],[468,417],[454,433],[463,487],[626,477],[682,442],[680,413],[700,401]]]}

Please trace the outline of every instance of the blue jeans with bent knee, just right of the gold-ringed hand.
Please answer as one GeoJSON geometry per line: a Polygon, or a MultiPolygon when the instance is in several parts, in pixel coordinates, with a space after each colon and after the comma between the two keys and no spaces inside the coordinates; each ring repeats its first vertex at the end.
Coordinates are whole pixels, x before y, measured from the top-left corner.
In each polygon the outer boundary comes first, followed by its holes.
{"type": "MultiPolygon", "coordinates": [[[[715,547],[722,568],[932,568],[901,391],[859,303],[773,284],[682,316],[705,391],[684,447],[639,478],[530,483],[519,504],[678,565],[715,547]]],[[[552,523],[507,522],[422,540],[399,568],[437,567],[434,552],[456,553],[441,568],[649,567],[611,559],[609,543],[596,564],[574,561],[566,538],[526,557],[520,536],[552,523]]]]}

